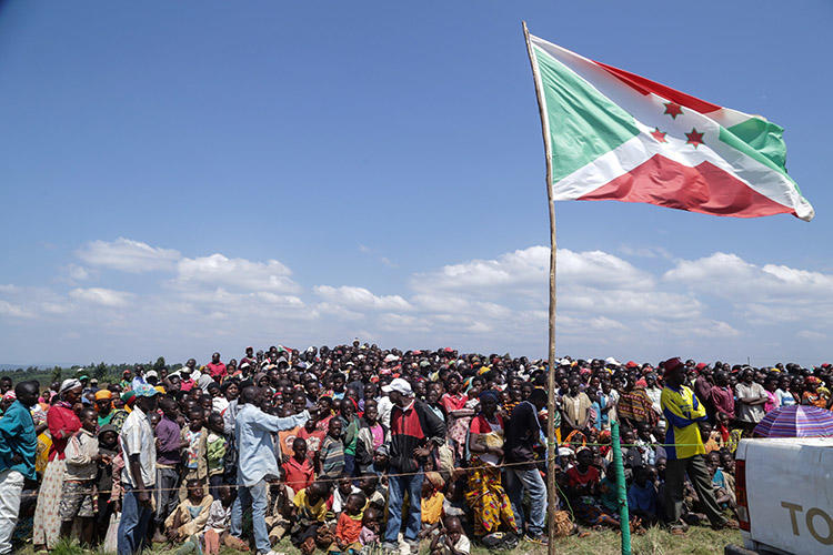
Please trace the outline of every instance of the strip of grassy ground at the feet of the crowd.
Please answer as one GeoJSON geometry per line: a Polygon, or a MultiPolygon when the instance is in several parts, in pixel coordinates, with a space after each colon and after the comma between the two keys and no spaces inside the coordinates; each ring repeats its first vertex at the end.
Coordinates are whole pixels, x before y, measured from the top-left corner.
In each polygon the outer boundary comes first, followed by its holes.
{"type": "MultiPolygon", "coordinates": [[[[685,536],[674,536],[665,529],[653,527],[641,536],[633,536],[632,553],[634,555],[713,555],[723,552],[726,544],[742,544],[741,533],[737,531],[715,532],[707,527],[692,527],[685,536]]],[[[423,546],[426,547],[426,544],[423,546]]],[[[175,548],[154,548],[155,555],[173,555],[175,548]]],[[[292,547],[288,539],[281,541],[274,546],[274,551],[283,552],[288,555],[298,555],[300,552],[292,547]]],[[[621,553],[620,535],[613,531],[591,532],[588,537],[570,536],[559,539],[559,553],[570,553],[575,555],[616,555],[621,553]]],[[[426,553],[426,549],[423,549],[426,553]]],[[[20,555],[33,555],[31,545],[20,549],[20,555]]],[[[102,552],[90,552],[82,549],[76,543],[61,543],[51,555],[89,555],[96,553],[103,555],[102,552]]],[[[472,547],[471,555],[486,555],[494,553],[482,547],[472,547]]],[[[545,555],[546,547],[538,544],[521,542],[512,552],[504,552],[523,555],[545,555]]],[[[223,548],[221,555],[241,555],[240,552],[223,548]]]]}

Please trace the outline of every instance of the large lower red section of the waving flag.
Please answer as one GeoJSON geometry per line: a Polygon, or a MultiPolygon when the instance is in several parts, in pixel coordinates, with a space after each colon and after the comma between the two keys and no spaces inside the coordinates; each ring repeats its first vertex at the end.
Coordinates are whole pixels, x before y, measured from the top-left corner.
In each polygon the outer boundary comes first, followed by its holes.
{"type": "Polygon", "coordinates": [[[795,213],[711,162],[690,168],[660,154],[579,200],[644,202],[736,218],[795,213]]]}

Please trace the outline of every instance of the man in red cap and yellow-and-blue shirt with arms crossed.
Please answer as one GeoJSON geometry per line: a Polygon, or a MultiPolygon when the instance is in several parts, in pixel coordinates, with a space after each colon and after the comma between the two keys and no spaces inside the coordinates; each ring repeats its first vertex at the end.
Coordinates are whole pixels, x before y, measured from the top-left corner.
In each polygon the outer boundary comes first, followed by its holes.
{"type": "Polygon", "coordinates": [[[665,387],[662,390],[662,414],[668,421],[665,428],[665,512],[673,532],[683,533],[688,525],[681,521],[683,511],[683,486],[689,475],[694,491],[705,508],[705,514],[715,529],[737,527],[726,519],[712,492],[712,477],[705,466],[705,447],[700,435],[700,422],[705,422],[705,406],[694,392],[683,385],[685,365],[680,359],[670,359],[663,364],[665,387]]]}

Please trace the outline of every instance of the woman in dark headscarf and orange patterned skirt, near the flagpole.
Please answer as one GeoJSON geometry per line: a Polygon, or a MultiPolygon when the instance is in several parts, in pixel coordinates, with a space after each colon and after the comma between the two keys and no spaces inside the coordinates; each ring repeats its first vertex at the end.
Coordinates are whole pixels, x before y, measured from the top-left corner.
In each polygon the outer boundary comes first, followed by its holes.
{"type": "Polygon", "coordinates": [[[498,414],[498,395],[489,390],[480,394],[480,413],[469,428],[471,465],[465,484],[465,501],[474,514],[474,535],[479,538],[502,527],[518,533],[512,504],[501,484],[503,458],[503,417],[498,414]]]}

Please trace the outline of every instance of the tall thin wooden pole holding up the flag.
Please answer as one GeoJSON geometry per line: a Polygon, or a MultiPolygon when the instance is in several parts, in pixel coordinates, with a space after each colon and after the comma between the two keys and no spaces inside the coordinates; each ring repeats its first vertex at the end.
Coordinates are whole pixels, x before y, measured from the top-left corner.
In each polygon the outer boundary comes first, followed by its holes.
{"type": "MultiPolygon", "coordinates": [[[[551,516],[555,513],[559,503],[558,488],[555,485],[555,426],[553,414],[555,414],[555,205],[552,201],[552,150],[550,148],[550,125],[546,119],[546,109],[544,108],[543,90],[541,85],[541,75],[538,72],[538,63],[532,52],[530,42],[530,31],[526,29],[526,22],[522,21],[523,37],[526,40],[526,53],[530,57],[532,65],[532,77],[535,80],[535,98],[538,99],[538,110],[541,114],[541,132],[544,139],[544,154],[546,155],[546,204],[550,208],[550,335],[549,335],[549,355],[548,355],[548,380],[546,380],[546,514],[551,516]]],[[[555,526],[552,518],[549,518],[548,531],[548,555],[555,555],[555,526]]]]}

